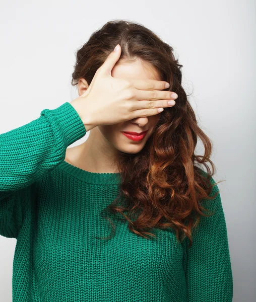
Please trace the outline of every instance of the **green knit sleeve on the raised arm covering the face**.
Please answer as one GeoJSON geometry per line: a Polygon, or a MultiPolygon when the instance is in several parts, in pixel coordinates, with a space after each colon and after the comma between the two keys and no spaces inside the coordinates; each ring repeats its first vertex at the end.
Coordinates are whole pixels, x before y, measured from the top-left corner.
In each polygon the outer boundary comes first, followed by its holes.
{"type": "Polygon", "coordinates": [[[68,102],[0,134],[0,235],[17,238],[36,182],[65,160],[67,147],[85,134],[79,114],[68,102]]]}

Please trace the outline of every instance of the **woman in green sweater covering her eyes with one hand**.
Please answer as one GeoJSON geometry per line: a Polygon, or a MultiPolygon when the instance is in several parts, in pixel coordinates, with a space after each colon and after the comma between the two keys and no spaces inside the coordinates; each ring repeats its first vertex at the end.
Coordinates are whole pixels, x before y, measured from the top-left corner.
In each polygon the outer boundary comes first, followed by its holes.
{"type": "Polygon", "coordinates": [[[108,22],[77,52],[79,97],[0,135],[14,302],[232,301],[212,144],[172,51],[138,23],[108,22]]]}

